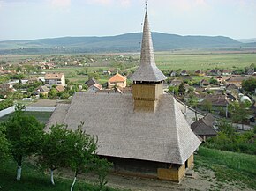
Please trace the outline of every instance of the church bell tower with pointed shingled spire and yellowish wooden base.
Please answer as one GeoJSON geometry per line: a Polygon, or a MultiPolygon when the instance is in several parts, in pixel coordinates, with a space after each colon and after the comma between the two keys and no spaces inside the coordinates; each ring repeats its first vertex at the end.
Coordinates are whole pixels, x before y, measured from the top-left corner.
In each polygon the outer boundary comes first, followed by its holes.
{"type": "Polygon", "coordinates": [[[154,61],[154,49],[146,13],[143,27],[139,68],[133,73],[132,94],[135,112],[154,112],[163,90],[165,77],[154,61]]]}

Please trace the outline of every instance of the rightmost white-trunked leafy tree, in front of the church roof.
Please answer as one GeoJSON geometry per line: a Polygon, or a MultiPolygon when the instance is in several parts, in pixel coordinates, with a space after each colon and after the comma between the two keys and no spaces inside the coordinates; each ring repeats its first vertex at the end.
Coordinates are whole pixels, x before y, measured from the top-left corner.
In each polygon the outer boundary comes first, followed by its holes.
{"type": "Polygon", "coordinates": [[[70,167],[74,171],[74,180],[71,191],[75,185],[78,174],[88,173],[93,170],[97,150],[97,137],[86,134],[81,128],[81,123],[75,131],[72,131],[69,145],[72,148],[70,167]]]}

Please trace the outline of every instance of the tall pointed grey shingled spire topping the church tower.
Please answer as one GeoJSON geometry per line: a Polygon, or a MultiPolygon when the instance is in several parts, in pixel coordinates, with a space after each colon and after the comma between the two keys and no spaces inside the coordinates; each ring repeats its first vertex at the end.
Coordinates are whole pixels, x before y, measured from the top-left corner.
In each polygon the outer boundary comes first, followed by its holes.
{"type": "Polygon", "coordinates": [[[133,73],[132,81],[144,81],[144,82],[160,82],[165,80],[162,71],[157,68],[154,61],[154,49],[147,19],[147,2],[146,2],[146,14],[144,19],[143,37],[141,43],[140,64],[139,68],[133,73]]]}

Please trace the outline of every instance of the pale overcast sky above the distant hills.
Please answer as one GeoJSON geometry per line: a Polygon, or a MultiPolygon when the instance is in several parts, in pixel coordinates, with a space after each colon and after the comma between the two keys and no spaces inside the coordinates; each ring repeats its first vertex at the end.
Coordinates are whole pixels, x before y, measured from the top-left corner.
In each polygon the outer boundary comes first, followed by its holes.
{"type": "MultiPolygon", "coordinates": [[[[0,40],[141,32],[145,0],[0,0],[0,40]]],[[[151,30],[256,38],[256,0],[149,0],[151,30]]]]}

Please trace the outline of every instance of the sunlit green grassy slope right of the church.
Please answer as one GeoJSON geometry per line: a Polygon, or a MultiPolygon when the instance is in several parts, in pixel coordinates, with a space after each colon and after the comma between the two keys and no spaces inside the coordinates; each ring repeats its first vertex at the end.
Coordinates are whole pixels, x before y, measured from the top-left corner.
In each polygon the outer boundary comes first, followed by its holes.
{"type": "Polygon", "coordinates": [[[254,155],[200,147],[198,155],[195,155],[196,170],[200,166],[213,170],[220,181],[242,182],[247,187],[256,189],[256,156],[254,155]]]}

